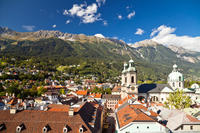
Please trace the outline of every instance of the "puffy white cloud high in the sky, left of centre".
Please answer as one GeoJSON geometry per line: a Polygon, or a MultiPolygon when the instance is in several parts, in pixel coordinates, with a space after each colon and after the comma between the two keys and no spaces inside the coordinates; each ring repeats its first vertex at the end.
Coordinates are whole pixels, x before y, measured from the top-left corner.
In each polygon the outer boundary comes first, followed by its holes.
{"type": "Polygon", "coordinates": [[[87,4],[74,4],[69,10],[64,10],[63,15],[77,16],[81,19],[82,23],[93,23],[95,21],[101,20],[100,13],[97,13],[98,6],[93,3],[89,6],[87,4]]]}

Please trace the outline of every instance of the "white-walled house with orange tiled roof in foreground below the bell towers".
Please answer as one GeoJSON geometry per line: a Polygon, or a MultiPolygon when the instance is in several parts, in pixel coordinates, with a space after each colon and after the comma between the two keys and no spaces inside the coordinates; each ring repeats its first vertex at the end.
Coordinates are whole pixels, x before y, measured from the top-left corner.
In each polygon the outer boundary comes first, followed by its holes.
{"type": "Polygon", "coordinates": [[[170,130],[159,123],[158,114],[142,104],[129,99],[116,111],[116,131],[118,133],[169,133],[170,130]]]}

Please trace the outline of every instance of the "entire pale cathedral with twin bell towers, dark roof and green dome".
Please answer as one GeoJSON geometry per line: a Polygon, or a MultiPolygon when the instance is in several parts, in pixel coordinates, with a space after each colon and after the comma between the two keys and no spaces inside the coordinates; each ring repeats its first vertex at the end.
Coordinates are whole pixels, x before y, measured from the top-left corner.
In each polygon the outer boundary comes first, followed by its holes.
{"type": "Polygon", "coordinates": [[[173,65],[173,70],[168,75],[167,84],[138,85],[137,70],[132,59],[129,61],[129,64],[124,63],[121,77],[121,87],[115,87],[118,89],[117,92],[113,91],[113,94],[119,94],[118,91],[121,88],[120,94],[122,99],[127,97],[127,95],[135,95],[135,98],[140,100],[145,99],[145,102],[164,103],[169,94],[177,89],[183,90],[187,96],[190,96],[193,103],[198,102],[198,99],[200,99],[200,88],[197,84],[193,85],[192,88],[184,88],[184,76],[178,71],[176,64],[173,65]]]}

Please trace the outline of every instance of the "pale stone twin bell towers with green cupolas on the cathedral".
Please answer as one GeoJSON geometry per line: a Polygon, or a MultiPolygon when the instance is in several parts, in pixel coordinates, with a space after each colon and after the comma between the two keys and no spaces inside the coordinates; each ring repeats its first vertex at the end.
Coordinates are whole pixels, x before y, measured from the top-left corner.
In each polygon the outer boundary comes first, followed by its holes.
{"type": "Polygon", "coordinates": [[[134,61],[131,59],[128,64],[124,63],[124,69],[122,71],[122,98],[128,94],[134,94],[137,96],[137,71],[135,69],[134,61]]]}

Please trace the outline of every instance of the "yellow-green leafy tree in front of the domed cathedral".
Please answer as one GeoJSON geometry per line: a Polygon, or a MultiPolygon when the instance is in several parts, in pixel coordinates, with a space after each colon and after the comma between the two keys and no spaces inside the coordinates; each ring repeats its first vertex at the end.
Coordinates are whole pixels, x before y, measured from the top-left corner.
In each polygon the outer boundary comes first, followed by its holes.
{"type": "Polygon", "coordinates": [[[165,107],[170,109],[184,109],[190,107],[192,101],[189,96],[186,96],[183,90],[176,90],[169,94],[165,101],[165,107]]]}

